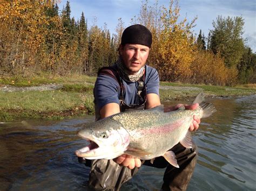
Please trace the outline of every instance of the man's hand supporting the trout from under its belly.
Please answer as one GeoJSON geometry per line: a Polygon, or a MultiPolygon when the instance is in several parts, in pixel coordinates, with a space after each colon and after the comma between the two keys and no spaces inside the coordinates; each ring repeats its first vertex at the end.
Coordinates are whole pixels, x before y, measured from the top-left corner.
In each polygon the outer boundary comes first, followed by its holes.
{"type": "Polygon", "coordinates": [[[132,158],[128,154],[120,155],[120,157],[113,159],[113,161],[117,162],[121,166],[126,166],[130,169],[142,166],[142,161],[140,161],[140,159],[132,158]]]}

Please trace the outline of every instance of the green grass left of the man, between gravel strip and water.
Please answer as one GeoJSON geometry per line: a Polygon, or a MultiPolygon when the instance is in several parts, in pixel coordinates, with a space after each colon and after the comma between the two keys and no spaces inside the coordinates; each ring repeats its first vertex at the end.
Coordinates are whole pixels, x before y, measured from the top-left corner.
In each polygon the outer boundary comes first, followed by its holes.
{"type": "Polygon", "coordinates": [[[74,91],[0,91],[0,120],[17,118],[63,119],[93,114],[92,93],[74,91]]]}

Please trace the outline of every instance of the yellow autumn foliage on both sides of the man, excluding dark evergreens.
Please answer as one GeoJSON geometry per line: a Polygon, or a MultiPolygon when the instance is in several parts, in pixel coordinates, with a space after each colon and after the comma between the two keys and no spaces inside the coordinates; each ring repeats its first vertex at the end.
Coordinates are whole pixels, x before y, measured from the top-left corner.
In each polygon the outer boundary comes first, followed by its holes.
{"type": "MultiPolygon", "coordinates": [[[[143,3],[133,24],[145,25],[152,32],[153,44],[148,64],[157,68],[161,80],[232,85],[237,69],[226,68],[224,60],[211,52],[199,51],[194,45],[190,23],[180,19],[178,0],[169,8],[143,3]]],[[[0,4],[0,72],[23,74],[47,70],[53,74],[70,72],[92,74],[99,67],[111,65],[117,57],[124,30],[118,19],[113,39],[106,29],[93,25],[87,32],[79,26],[67,31],[63,16],[48,16],[55,1],[9,1],[0,4]]],[[[73,22],[73,26],[75,22],[73,22]]]]}

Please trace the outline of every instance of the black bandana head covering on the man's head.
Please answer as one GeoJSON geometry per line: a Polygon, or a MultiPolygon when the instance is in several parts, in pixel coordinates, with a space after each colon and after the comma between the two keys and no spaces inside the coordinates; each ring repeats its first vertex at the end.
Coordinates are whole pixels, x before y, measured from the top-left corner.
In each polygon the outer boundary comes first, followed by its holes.
{"type": "Polygon", "coordinates": [[[152,34],[150,30],[143,25],[131,25],[124,30],[121,44],[139,44],[151,48],[152,34]]]}

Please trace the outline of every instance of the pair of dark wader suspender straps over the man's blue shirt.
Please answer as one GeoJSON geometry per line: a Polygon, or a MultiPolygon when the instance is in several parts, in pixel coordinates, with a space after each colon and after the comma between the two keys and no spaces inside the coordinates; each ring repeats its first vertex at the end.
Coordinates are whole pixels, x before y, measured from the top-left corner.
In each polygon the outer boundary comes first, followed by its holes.
{"type": "MultiPolygon", "coordinates": [[[[98,75],[100,75],[100,74],[104,74],[104,75],[113,77],[113,79],[118,82],[119,87],[120,87],[120,94],[119,94],[119,97],[118,97],[119,98],[119,102],[120,102],[121,105],[126,105],[124,103],[124,97],[123,97],[123,93],[124,93],[124,89],[125,89],[124,88],[124,84],[122,83],[122,77],[119,75],[119,73],[116,70],[116,68],[111,67],[111,66],[110,67],[100,68],[98,70],[98,75]]],[[[144,98],[141,96],[141,94],[143,93],[143,90],[144,90],[145,76],[146,76],[146,70],[144,70],[143,76],[140,77],[139,81],[137,82],[138,83],[138,97],[139,97],[140,102],[142,102],[142,103],[144,102],[145,96],[146,96],[146,95],[144,95],[144,98]]],[[[144,102],[144,104],[145,104],[145,102],[144,102]]]]}

